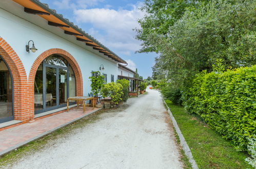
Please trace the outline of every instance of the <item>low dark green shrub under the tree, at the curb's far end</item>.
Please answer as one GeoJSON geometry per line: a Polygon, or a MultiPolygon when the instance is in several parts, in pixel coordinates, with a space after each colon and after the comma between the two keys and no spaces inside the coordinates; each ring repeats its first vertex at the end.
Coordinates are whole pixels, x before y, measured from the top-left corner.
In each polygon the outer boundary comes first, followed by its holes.
{"type": "Polygon", "coordinates": [[[167,98],[168,100],[171,100],[174,104],[180,104],[180,105],[182,104],[181,89],[174,88],[172,86],[166,86],[162,88],[161,93],[165,98],[167,98]]]}

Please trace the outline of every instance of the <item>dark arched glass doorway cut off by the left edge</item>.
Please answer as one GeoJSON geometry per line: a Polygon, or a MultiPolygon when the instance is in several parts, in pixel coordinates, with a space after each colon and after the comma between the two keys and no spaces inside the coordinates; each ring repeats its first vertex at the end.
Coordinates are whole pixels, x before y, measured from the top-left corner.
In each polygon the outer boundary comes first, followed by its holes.
{"type": "Polygon", "coordinates": [[[13,78],[4,58],[0,55],[0,123],[14,119],[13,78]]]}

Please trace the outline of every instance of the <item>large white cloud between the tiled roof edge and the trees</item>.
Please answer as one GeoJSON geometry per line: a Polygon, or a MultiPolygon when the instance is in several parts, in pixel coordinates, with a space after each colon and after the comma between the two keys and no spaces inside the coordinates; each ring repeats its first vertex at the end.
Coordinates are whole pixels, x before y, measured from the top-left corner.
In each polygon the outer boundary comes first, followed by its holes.
{"type": "MultiPolygon", "coordinates": [[[[141,42],[134,38],[134,28],[140,28],[137,19],[144,16],[139,10],[142,3],[131,9],[92,8],[74,10],[76,22],[92,24],[88,33],[117,54],[131,55],[140,49],[141,42]],[[99,31],[97,31],[99,30],[99,31]]],[[[121,56],[122,57],[122,56],[121,56]]]]}

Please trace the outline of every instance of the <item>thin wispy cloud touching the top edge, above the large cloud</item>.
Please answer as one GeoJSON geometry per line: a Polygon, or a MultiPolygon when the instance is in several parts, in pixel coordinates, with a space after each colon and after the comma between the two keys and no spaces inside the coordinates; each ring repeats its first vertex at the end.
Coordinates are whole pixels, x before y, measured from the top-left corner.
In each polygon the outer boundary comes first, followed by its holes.
{"type": "Polygon", "coordinates": [[[104,2],[104,0],[76,0],[75,2],[71,0],[58,0],[54,1],[53,4],[57,6],[58,9],[86,9],[98,5],[99,2],[104,2]]]}

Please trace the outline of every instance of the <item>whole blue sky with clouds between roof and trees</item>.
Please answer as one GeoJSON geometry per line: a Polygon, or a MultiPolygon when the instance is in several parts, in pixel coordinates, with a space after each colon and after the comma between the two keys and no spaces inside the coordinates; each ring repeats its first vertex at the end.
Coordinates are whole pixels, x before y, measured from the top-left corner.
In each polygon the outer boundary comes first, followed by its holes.
{"type": "Polygon", "coordinates": [[[57,13],[89,33],[103,45],[138,69],[143,78],[152,75],[155,53],[136,53],[141,42],[134,38],[134,28],[140,28],[138,18],[143,1],[135,0],[41,0],[57,13]]]}

